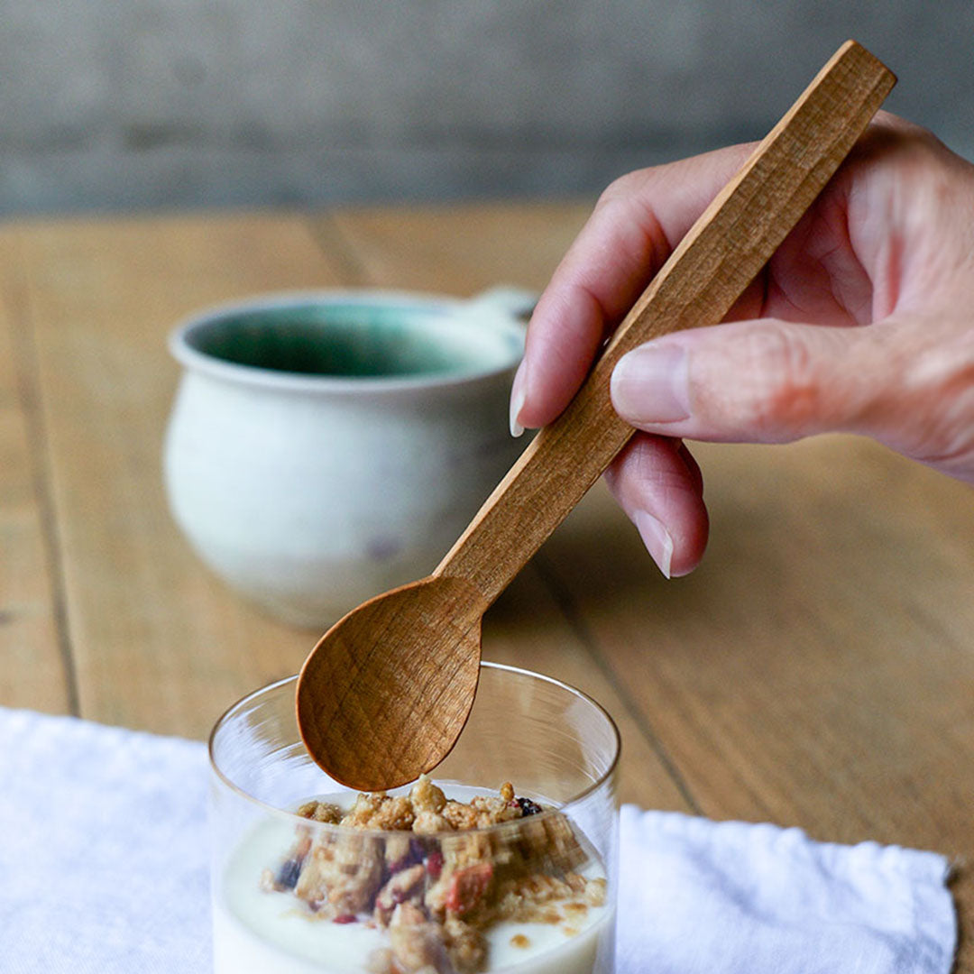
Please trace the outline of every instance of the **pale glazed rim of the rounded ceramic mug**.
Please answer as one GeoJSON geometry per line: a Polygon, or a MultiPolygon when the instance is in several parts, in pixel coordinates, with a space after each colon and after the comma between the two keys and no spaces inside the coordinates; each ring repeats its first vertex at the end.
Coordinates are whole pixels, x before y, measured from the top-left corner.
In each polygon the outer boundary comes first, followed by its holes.
{"type": "Polygon", "coordinates": [[[500,303],[471,298],[454,297],[425,291],[386,288],[319,288],[313,290],[276,291],[249,298],[221,302],[194,312],[169,332],[169,354],[185,369],[202,372],[214,378],[237,382],[245,386],[261,386],[294,392],[321,393],[394,393],[408,390],[428,390],[466,386],[513,372],[523,356],[526,323],[514,311],[500,303]],[[207,325],[242,312],[274,311],[302,304],[359,304],[389,305],[401,303],[413,308],[453,309],[475,306],[475,314],[483,322],[506,331],[515,342],[511,344],[509,360],[503,365],[460,373],[425,373],[395,376],[335,376],[308,375],[303,372],[284,372],[280,369],[245,365],[206,355],[188,341],[189,335],[207,325]]]}

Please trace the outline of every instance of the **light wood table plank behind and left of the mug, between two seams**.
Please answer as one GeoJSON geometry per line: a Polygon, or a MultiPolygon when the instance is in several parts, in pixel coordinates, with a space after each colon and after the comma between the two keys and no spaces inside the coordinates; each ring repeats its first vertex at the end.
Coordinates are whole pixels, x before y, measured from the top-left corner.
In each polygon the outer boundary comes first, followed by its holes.
{"type": "Polygon", "coordinates": [[[340,273],[287,215],[35,223],[20,240],[81,713],[204,736],[314,635],[251,610],[169,518],[166,336],[201,306],[340,273]]]}

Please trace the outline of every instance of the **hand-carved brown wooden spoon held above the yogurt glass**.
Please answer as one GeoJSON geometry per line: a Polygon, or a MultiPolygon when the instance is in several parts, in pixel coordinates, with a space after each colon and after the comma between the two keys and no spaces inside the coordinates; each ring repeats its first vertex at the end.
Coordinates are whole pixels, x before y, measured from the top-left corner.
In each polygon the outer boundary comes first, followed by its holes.
{"type": "Polygon", "coordinates": [[[380,595],[321,637],[297,717],[312,758],[361,791],[435,767],[467,722],[484,611],[633,434],[613,411],[619,357],[728,313],[865,130],[895,77],[847,41],[693,225],[432,575],[380,595]]]}

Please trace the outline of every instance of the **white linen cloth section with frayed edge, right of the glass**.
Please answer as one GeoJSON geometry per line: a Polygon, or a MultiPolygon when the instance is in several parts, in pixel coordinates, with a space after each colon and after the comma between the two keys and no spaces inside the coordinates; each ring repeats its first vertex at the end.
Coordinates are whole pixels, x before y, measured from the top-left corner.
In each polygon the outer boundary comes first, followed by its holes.
{"type": "Polygon", "coordinates": [[[949,864],[622,808],[619,974],[948,974],[949,864]]]}

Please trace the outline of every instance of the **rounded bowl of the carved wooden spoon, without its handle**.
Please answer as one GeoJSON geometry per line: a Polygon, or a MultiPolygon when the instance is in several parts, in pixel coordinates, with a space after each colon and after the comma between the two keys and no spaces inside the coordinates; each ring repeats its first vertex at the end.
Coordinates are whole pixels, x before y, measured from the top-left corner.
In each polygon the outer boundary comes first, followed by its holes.
{"type": "Polygon", "coordinates": [[[339,619],[321,637],[323,651],[305,661],[297,686],[299,729],[318,764],[359,791],[376,787],[376,754],[383,755],[384,788],[439,764],[473,704],[481,603],[463,580],[428,577],[339,619]]]}

